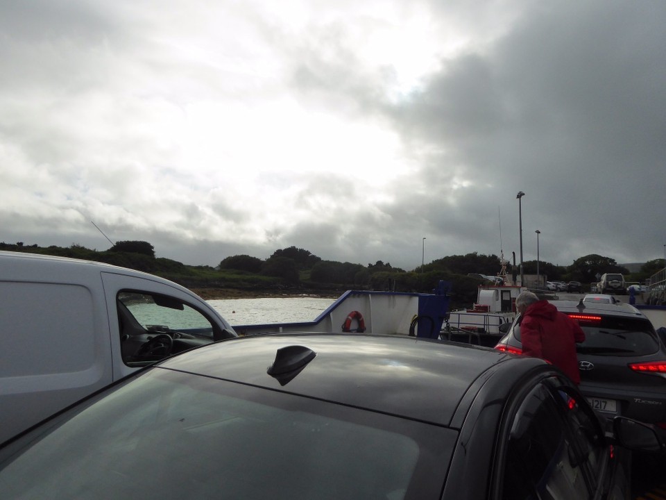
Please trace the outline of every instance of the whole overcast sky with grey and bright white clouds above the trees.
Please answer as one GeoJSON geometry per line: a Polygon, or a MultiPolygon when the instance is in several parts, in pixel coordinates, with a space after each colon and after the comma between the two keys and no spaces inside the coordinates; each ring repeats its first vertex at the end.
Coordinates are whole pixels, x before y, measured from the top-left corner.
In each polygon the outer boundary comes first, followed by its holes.
{"type": "Polygon", "coordinates": [[[664,0],[3,0],[0,241],[520,260],[523,191],[524,260],[537,229],[557,265],[663,258],[664,26],[664,0]]]}

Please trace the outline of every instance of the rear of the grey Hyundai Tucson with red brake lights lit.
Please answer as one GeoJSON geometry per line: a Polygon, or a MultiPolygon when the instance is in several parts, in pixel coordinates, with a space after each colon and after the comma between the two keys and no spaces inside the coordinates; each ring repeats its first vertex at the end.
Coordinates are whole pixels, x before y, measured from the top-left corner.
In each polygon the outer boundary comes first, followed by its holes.
{"type": "MultiPolygon", "coordinates": [[[[551,301],[579,322],[581,392],[608,418],[632,417],[666,428],[666,347],[649,319],[626,303],[551,301]]],[[[495,349],[522,353],[521,316],[495,349]]]]}

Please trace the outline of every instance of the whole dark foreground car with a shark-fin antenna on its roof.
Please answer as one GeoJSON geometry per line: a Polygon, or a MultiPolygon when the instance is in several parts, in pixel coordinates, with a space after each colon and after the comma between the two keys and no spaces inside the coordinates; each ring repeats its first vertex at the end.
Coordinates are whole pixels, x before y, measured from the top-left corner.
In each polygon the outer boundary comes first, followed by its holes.
{"type": "Polygon", "coordinates": [[[536,358],[257,335],[148,367],[6,443],[0,498],[628,499],[617,444],[663,445],[613,427],[536,358]]]}

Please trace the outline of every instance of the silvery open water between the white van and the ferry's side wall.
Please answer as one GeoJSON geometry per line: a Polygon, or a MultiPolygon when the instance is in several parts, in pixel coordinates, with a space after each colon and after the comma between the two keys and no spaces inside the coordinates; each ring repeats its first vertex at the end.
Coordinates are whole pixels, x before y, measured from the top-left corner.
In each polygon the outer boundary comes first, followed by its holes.
{"type": "Polygon", "coordinates": [[[335,299],[284,297],[280,299],[218,299],[207,301],[232,326],[313,321],[335,299]]]}

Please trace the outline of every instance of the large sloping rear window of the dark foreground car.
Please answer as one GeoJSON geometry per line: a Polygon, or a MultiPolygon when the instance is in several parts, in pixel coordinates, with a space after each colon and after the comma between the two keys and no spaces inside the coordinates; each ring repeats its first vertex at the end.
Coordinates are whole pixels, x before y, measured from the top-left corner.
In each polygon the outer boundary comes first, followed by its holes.
{"type": "Polygon", "coordinates": [[[0,450],[0,498],[435,498],[457,438],[167,369],[97,399],[0,450]]]}

